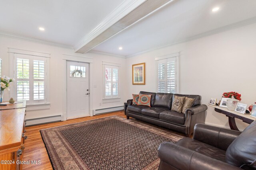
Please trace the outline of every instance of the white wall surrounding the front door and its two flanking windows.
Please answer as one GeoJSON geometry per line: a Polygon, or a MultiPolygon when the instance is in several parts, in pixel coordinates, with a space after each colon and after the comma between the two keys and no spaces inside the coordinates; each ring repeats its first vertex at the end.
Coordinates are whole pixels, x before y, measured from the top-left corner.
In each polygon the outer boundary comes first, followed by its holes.
{"type": "MultiPolygon", "coordinates": [[[[74,53],[72,49],[65,49],[61,47],[54,47],[50,45],[44,45],[40,43],[33,43],[29,41],[23,41],[19,39],[13,39],[8,37],[0,36],[0,58],[2,59],[2,75],[9,76],[9,53],[8,48],[22,49],[28,51],[36,51],[42,53],[50,53],[50,109],[28,111],[26,119],[33,119],[39,117],[47,117],[53,115],[61,115],[63,113],[63,59],[64,55],[74,55],[78,57],[88,57],[93,59],[93,76],[90,78],[92,84],[97,87],[90,89],[90,94],[93,95],[92,108],[90,109],[101,109],[106,107],[123,106],[127,100],[124,93],[124,87],[126,86],[126,63],[125,59],[118,57],[110,57],[106,55],[98,54],[78,54],[74,53]],[[102,103],[102,61],[119,63],[120,67],[120,102],[102,103]]],[[[12,85],[12,84],[11,84],[12,85]]],[[[9,92],[5,90],[4,100],[10,99],[9,92]]]]}

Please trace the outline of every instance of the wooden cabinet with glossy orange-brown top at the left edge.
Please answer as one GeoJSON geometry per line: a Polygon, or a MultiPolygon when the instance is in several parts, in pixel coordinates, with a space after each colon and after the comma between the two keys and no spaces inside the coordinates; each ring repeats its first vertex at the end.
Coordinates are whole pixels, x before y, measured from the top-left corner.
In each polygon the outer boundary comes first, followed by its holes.
{"type": "Polygon", "coordinates": [[[22,170],[25,107],[26,101],[0,106],[0,170],[22,170]]]}

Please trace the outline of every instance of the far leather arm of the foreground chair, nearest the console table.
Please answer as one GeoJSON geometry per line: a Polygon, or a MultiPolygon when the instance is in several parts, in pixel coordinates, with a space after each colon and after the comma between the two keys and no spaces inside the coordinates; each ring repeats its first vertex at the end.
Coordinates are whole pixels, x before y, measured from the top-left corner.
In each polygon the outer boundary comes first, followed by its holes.
{"type": "Polygon", "coordinates": [[[240,133],[240,131],[198,123],[194,127],[193,139],[227,150],[240,133]]]}

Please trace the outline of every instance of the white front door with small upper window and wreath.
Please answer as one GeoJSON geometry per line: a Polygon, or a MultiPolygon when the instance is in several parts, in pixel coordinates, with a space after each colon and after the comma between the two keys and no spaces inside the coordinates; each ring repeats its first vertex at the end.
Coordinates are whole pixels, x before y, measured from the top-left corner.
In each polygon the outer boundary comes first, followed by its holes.
{"type": "Polygon", "coordinates": [[[89,64],[67,61],[67,119],[89,114],[89,64]]]}

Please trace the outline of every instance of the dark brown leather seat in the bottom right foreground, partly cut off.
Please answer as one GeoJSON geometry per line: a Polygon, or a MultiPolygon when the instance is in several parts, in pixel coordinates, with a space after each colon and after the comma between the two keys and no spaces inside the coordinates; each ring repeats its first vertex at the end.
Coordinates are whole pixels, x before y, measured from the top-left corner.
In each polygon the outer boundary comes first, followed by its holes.
{"type": "Polygon", "coordinates": [[[256,121],[244,131],[196,124],[193,139],[164,142],[158,170],[256,169],[256,121]]]}

